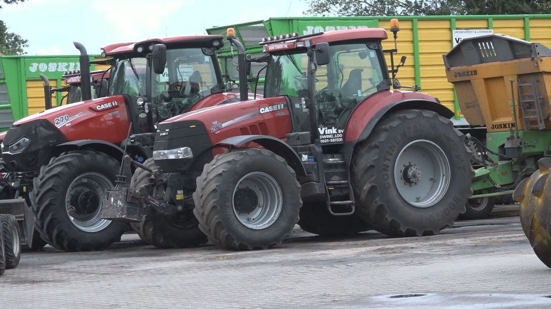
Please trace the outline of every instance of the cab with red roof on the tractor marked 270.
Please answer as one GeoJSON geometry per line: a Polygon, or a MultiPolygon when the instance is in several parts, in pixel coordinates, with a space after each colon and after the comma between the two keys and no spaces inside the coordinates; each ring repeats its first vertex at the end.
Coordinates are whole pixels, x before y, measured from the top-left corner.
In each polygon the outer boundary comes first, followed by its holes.
{"type": "Polygon", "coordinates": [[[106,46],[102,56],[114,58],[108,95],[125,95],[135,131],[152,131],[156,123],[223,92],[216,53],[222,38],[181,36],[106,46]]]}

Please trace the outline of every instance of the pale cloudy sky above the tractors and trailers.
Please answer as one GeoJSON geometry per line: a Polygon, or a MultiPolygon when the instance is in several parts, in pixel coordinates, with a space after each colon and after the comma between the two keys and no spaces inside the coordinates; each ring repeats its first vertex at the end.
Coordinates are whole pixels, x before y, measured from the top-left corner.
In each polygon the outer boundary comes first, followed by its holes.
{"type": "Polygon", "coordinates": [[[29,40],[29,55],[90,54],[116,42],[205,34],[213,26],[302,16],[303,0],[26,0],[0,10],[9,31],[29,40]]]}

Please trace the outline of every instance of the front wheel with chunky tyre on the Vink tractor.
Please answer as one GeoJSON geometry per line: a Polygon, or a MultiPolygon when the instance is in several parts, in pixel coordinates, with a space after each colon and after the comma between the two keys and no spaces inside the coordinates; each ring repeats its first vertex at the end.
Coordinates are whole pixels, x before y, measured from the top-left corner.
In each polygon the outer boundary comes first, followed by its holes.
{"type": "Polygon", "coordinates": [[[193,213],[214,244],[233,250],[281,244],[302,206],[295,172],[282,157],[242,148],[214,157],[197,178],[193,213]]]}

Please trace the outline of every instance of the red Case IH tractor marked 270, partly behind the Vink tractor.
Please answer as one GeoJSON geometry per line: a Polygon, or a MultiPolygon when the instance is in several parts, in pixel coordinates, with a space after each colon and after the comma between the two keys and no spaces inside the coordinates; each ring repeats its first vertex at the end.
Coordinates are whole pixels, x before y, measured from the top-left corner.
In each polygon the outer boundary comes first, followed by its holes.
{"type": "MultiPolygon", "coordinates": [[[[109,93],[94,100],[89,56],[77,44],[84,101],[18,120],[2,144],[9,181],[32,204],[42,239],[67,251],[104,249],[120,239],[128,224],[102,219],[100,212],[102,195],[115,185],[123,153],[143,162],[152,155],[157,123],[239,101],[239,95],[223,93],[217,60],[222,40],[179,36],[106,46],[103,56],[113,58],[109,93]],[[166,47],[161,74],[154,74],[150,65],[148,48],[156,43],[166,47]]],[[[20,207],[25,200],[3,203],[20,207]]]]}

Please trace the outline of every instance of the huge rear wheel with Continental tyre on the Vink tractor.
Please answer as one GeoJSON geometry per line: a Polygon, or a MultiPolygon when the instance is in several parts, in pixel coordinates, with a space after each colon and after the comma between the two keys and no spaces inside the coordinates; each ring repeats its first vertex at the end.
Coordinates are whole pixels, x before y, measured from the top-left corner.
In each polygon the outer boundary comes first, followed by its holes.
{"type": "Polygon", "coordinates": [[[354,150],[356,212],[389,236],[438,234],[465,211],[470,163],[449,119],[415,109],[392,113],[354,150]]]}

